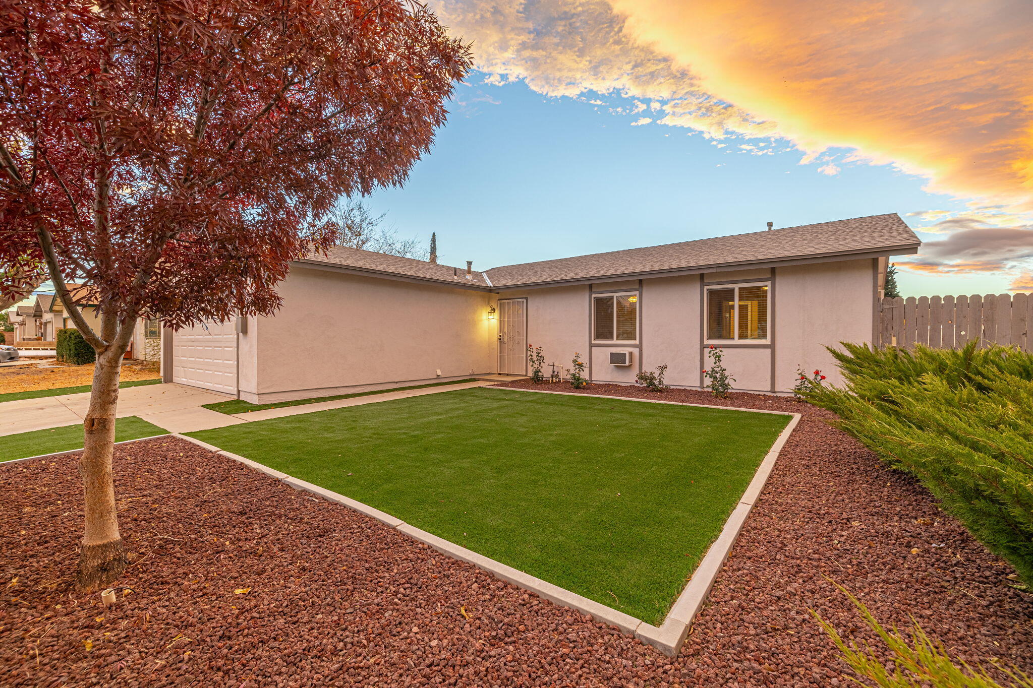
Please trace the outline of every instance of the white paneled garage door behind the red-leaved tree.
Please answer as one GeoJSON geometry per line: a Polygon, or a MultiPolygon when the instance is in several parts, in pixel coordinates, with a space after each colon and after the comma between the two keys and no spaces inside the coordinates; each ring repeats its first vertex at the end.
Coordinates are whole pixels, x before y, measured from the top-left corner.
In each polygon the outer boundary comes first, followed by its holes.
{"type": "Polygon", "coordinates": [[[204,323],[173,335],[173,382],[237,394],[234,321],[204,323]]]}

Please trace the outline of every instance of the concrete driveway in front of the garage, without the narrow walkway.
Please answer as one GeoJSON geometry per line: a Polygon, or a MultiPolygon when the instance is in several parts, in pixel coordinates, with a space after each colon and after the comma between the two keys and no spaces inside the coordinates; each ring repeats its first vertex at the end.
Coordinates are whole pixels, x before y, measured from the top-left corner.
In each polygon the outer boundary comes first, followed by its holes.
{"type": "MultiPolygon", "coordinates": [[[[201,404],[233,397],[176,384],[145,385],[119,390],[117,416],[139,416],[169,432],[192,432],[244,421],[201,404]]],[[[45,396],[0,403],[0,436],[82,423],[90,393],[45,396]]]]}

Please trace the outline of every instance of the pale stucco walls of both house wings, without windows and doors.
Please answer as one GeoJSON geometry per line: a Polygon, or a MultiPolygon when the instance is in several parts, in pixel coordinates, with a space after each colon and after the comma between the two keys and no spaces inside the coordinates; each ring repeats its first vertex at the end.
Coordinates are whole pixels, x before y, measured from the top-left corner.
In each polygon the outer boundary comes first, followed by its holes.
{"type": "Polygon", "coordinates": [[[735,389],[788,391],[797,363],[821,368],[838,382],[823,347],[871,339],[876,279],[871,259],[646,279],[640,345],[594,347],[593,291],[637,289],[637,281],[496,295],[295,268],[279,287],[280,312],[249,319],[247,333],[239,337],[241,396],[280,401],[495,372],[498,321],[488,309],[500,298],[527,299],[528,342],[542,347],[546,363],[568,368],[578,352],[591,361],[594,381],[622,383],[665,363],[668,384],[698,387],[707,366],[700,365],[708,346],[700,317],[703,284],[764,279],[772,280],[773,342],[725,347],[735,389]],[[633,365],[611,365],[608,352],[623,349],[633,352],[633,365]]]}

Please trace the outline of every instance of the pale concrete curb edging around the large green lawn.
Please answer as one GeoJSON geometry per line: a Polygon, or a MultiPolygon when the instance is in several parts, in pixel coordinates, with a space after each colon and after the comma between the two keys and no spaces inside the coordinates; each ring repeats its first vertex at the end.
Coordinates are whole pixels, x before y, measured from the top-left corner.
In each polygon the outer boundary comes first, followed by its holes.
{"type": "MultiPolygon", "coordinates": [[[[491,389],[491,388],[482,388],[491,389]]],[[[495,388],[495,389],[506,389],[506,388],[495,388]]],[[[525,392],[537,392],[537,390],[519,390],[525,392]]],[[[588,396],[573,394],[570,392],[540,392],[544,394],[570,394],[574,396],[588,396]]],[[[591,395],[594,397],[599,397],[600,395],[591,395]]],[[[199,439],[194,439],[193,437],[188,437],[180,433],[171,433],[173,436],[179,437],[180,439],[185,439],[186,441],[193,443],[198,447],[202,447],[211,452],[220,454],[227,458],[233,459],[244,463],[245,465],[254,468],[255,470],[261,471],[280,482],[283,482],[295,490],[303,490],[311,494],[317,495],[326,499],[327,501],[333,501],[361,514],[369,516],[377,521],[380,521],[384,525],[395,528],[400,532],[405,533],[409,537],[418,540],[432,549],[458,559],[460,561],[465,561],[467,563],[473,564],[478,568],[481,568],[492,576],[501,579],[507,583],[511,583],[520,588],[523,588],[529,592],[533,592],[539,597],[543,597],[552,602],[566,607],[569,609],[576,610],[582,614],[587,614],[597,621],[601,621],[611,626],[615,626],[620,629],[621,632],[627,633],[629,635],[634,635],[637,640],[653,646],[654,648],[660,650],[662,653],[668,656],[675,656],[681,650],[682,645],[685,643],[685,638],[689,634],[689,629],[692,625],[692,621],[696,614],[702,608],[703,602],[710,593],[714,582],[717,580],[718,574],[721,571],[721,567],[724,565],[725,560],[728,558],[731,552],[732,546],[735,544],[735,539],[739,536],[740,531],[743,529],[743,525],[746,523],[747,517],[750,515],[750,511],[753,509],[754,503],[760,496],[763,490],[764,484],[768,482],[768,477],[771,474],[772,469],[775,467],[775,461],[778,459],[779,453],[785,446],[785,443],[789,439],[789,435],[792,433],[796,424],[800,422],[801,414],[793,414],[781,411],[762,411],[758,408],[733,408],[728,406],[709,406],[703,404],[690,404],[682,403],[677,401],[661,401],[653,399],[635,399],[629,397],[614,397],[606,396],[602,398],[611,399],[621,399],[628,401],[647,401],[655,403],[669,403],[677,405],[686,406],[703,406],[706,408],[722,408],[725,411],[749,411],[762,414],[773,414],[779,416],[790,416],[791,420],[783,428],[782,432],[775,439],[772,448],[769,450],[768,454],[761,460],[760,465],[757,467],[753,479],[750,481],[749,486],[747,486],[746,491],[743,493],[738,505],[732,511],[731,515],[725,521],[724,526],[721,529],[720,534],[717,539],[710,546],[707,550],[707,554],[700,560],[699,565],[696,566],[695,571],[693,571],[692,577],[689,579],[688,584],[682,590],[678,599],[671,605],[670,611],[667,613],[663,624],[660,627],[653,626],[646,623],[641,619],[636,619],[624,612],[620,612],[611,607],[597,602],[588,597],[584,597],[574,592],[561,588],[557,585],[543,581],[539,578],[535,578],[529,574],[525,574],[522,570],[513,568],[512,566],[507,566],[500,561],[490,559],[481,554],[477,554],[472,550],[468,550],[465,547],[450,543],[442,537],[439,537],[433,533],[427,532],[405,523],[401,519],[398,519],[389,514],[381,512],[378,509],[374,509],[369,504],[365,504],[361,501],[346,497],[343,494],[327,490],[325,488],[319,487],[318,485],[313,485],[298,478],[288,476],[280,470],[270,468],[269,466],[262,465],[257,461],[252,461],[243,456],[232,454],[225,450],[219,449],[213,445],[201,441],[199,439]]],[[[164,436],[164,435],[162,435],[164,436]]],[[[131,441],[131,440],[130,440],[131,441]]]]}

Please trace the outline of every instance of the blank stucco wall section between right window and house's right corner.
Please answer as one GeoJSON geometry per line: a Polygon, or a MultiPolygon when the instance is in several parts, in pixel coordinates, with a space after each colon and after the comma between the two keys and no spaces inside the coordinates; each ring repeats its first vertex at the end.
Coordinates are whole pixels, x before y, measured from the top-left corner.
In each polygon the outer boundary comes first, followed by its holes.
{"type": "Polygon", "coordinates": [[[775,378],[792,389],[796,366],[820,368],[842,382],[825,350],[840,341],[871,341],[876,271],[873,259],[814,263],[777,270],[775,378]]]}

